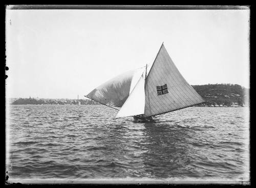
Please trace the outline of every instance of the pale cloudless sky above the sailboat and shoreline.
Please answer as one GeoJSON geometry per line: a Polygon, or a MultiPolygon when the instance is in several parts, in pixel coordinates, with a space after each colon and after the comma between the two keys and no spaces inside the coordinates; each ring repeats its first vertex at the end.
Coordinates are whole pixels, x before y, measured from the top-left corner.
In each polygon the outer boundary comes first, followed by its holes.
{"type": "Polygon", "coordinates": [[[249,88],[249,10],[6,10],[6,96],[86,99],[162,42],[190,85],[249,88]]]}

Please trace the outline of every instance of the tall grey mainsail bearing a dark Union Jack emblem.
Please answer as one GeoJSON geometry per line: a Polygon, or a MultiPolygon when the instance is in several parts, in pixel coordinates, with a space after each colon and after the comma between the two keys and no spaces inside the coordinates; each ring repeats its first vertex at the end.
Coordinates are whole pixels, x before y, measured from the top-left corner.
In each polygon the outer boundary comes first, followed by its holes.
{"type": "Polygon", "coordinates": [[[146,77],[144,116],[158,115],[203,102],[204,99],[182,77],[162,44],[146,77]]]}

